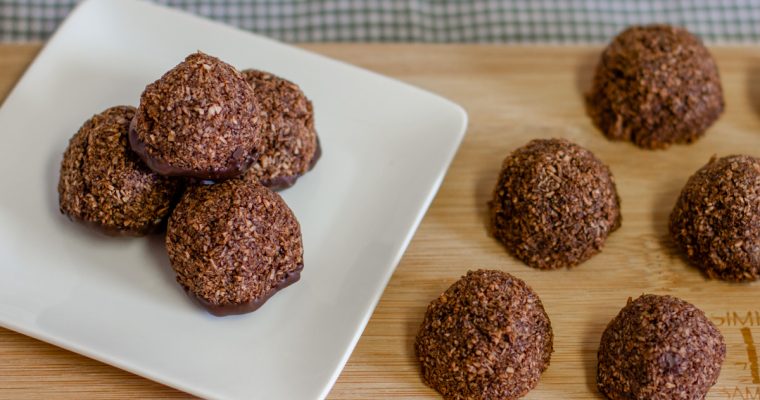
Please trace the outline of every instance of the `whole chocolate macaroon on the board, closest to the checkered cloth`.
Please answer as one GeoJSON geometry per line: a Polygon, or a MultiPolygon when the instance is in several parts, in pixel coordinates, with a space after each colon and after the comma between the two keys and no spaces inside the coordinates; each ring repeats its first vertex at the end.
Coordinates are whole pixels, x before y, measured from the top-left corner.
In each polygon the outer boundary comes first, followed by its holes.
{"type": "Polygon", "coordinates": [[[635,26],[602,53],[587,106],[608,138],[658,149],[691,143],[723,112],[718,68],[696,36],[635,26]]]}

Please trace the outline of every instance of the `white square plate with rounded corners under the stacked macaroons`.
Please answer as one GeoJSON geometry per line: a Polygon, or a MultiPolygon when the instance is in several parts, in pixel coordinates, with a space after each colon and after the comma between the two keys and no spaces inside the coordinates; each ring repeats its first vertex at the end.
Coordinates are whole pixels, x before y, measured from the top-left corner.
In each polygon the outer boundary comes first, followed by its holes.
{"type": "Polygon", "coordinates": [[[454,103],[150,3],[91,0],[0,109],[0,325],[212,398],[325,397],[464,136],[454,103]],[[282,193],[303,229],[301,281],[217,318],[174,282],[162,237],[108,238],[58,211],[69,138],[202,50],[295,81],[324,153],[282,193]]]}

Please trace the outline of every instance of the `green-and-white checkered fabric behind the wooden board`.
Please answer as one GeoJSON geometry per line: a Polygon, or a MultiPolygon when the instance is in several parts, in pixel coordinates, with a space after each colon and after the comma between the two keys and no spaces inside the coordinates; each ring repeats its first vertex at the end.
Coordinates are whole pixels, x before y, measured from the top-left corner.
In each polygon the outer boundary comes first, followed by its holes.
{"type": "MultiPolygon", "coordinates": [[[[288,42],[598,43],[653,22],[760,41],[760,0],[153,1],[288,42]]],[[[0,41],[45,40],[77,2],[0,0],[0,41]]]]}

